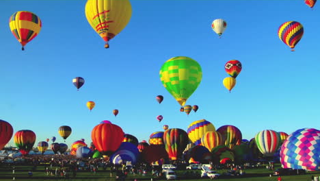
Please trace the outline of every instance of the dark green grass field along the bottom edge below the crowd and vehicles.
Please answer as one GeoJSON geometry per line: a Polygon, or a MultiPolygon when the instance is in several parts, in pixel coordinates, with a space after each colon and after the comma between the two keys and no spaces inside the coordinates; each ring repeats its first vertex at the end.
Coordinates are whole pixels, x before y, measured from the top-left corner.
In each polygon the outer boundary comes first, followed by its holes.
{"type": "MultiPolygon", "coordinates": [[[[44,172],[44,167],[37,167],[36,171],[33,171],[33,176],[31,178],[28,177],[28,171],[31,170],[32,167],[28,166],[16,166],[15,169],[15,174],[12,173],[12,168],[8,166],[1,166],[0,167],[0,180],[13,180],[13,177],[15,177],[15,180],[24,180],[24,181],[29,181],[29,180],[46,180],[46,181],[51,181],[51,180],[75,180],[75,181],[89,181],[89,180],[100,180],[100,181],[114,181],[116,180],[115,173],[113,174],[112,177],[110,177],[109,170],[107,171],[102,171],[98,170],[97,173],[92,173],[92,172],[78,172],[77,176],[75,178],[72,177],[72,173],[69,173],[70,178],[66,179],[63,178],[62,176],[46,176],[46,173],[44,172]]],[[[226,172],[226,170],[217,170],[218,173],[222,174],[226,172]]],[[[208,181],[210,180],[209,178],[200,178],[200,176],[186,176],[185,173],[186,171],[176,171],[177,173],[177,180],[189,180],[189,181],[198,181],[198,180],[203,180],[203,181],[208,181]]],[[[200,173],[200,171],[198,171],[200,173]]],[[[228,177],[221,177],[218,178],[217,180],[224,180],[224,181],[276,181],[277,177],[276,176],[269,176],[270,174],[273,173],[273,171],[270,171],[265,168],[258,168],[258,169],[246,169],[245,170],[245,176],[228,176],[228,177]]],[[[310,181],[311,176],[320,176],[320,171],[312,171],[308,172],[306,175],[300,175],[300,176],[282,176],[282,180],[290,180],[290,181],[310,181]]],[[[147,173],[146,176],[139,176],[139,175],[133,175],[130,174],[125,180],[165,180],[165,178],[162,177],[152,177],[150,173],[147,173]]]]}

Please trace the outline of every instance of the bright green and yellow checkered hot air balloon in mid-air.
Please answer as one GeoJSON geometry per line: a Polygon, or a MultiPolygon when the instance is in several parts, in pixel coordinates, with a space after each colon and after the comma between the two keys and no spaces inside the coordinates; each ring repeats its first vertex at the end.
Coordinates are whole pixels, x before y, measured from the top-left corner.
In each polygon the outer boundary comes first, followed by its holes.
{"type": "Polygon", "coordinates": [[[185,102],[202,80],[202,69],[200,64],[191,58],[170,58],[161,67],[160,80],[174,99],[181,106],[185,106],[185,102]]]}

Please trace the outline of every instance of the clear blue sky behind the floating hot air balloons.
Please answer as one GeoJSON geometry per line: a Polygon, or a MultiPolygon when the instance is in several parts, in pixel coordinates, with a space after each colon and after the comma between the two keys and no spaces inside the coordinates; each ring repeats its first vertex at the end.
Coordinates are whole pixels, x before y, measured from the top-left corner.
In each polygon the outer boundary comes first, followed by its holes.
{"type": "Polygon", "coordinates": [[[57,130],[69,125],[70,147],[80,138],[90,144],[92,128],[103,120],[139,141],[148,141],[164,124],[187,130],[199,119],[216,129],[235,125],[246,139],[267,129],[291,134],[320,128],[319,4],[311,10],[303,0],[131,0],[131,21],[105,49],[85,18],[85,2],[0,1],[0,119],[10,122],[14,133],[29,129],[36,144],[51,136],[62,143],[57,130]],[[20,10],[42,20],[40,34],[25,51],[8,24],[20,10]],[[211,29],[214,19],[228,23],[222,38],[211,29]],[[304,25],[295,52],[278,38],[286,21],[304,25]],[[161,65],[174,56],[202,66],[202,82],[187,101],[200,108],[189,116],[179,112],[159,79],[161,65]],[[243,69],[228,93],[222,80],[228,76],[224,64],[232,59],[243,69]],[[85,79],[79,92],[72,84],[77,76],[85,79]],[[157,95],[164,96],[160,105],[157,95]],[[87,101],[96,102],[92,112],[87,101]]]}

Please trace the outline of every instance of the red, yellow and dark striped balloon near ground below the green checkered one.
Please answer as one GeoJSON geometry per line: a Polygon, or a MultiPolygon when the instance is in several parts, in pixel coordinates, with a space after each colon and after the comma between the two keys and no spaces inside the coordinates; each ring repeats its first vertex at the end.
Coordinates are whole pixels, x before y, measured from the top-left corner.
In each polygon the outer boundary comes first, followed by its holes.
{"type": "Polygon", "coordinates": [[[185,147],[189,143],[188,134],[185,130],[179,128],[165,130],[163,143],[170,160],[177,160],[182,156],[183,150],[185,150],[185,147]]]}

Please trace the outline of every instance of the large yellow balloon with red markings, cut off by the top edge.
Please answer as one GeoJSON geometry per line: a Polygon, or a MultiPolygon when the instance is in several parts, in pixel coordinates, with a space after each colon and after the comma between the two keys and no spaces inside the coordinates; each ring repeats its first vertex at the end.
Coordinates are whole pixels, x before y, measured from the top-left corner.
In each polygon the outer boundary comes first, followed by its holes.
{"type": "Polygon", "coordinates": [[[109,40],[129,23],[131,4],[129,0],[88,0],[85,16],[94,31],[105,40],[105,48],[109,48],[109,40]]]}

